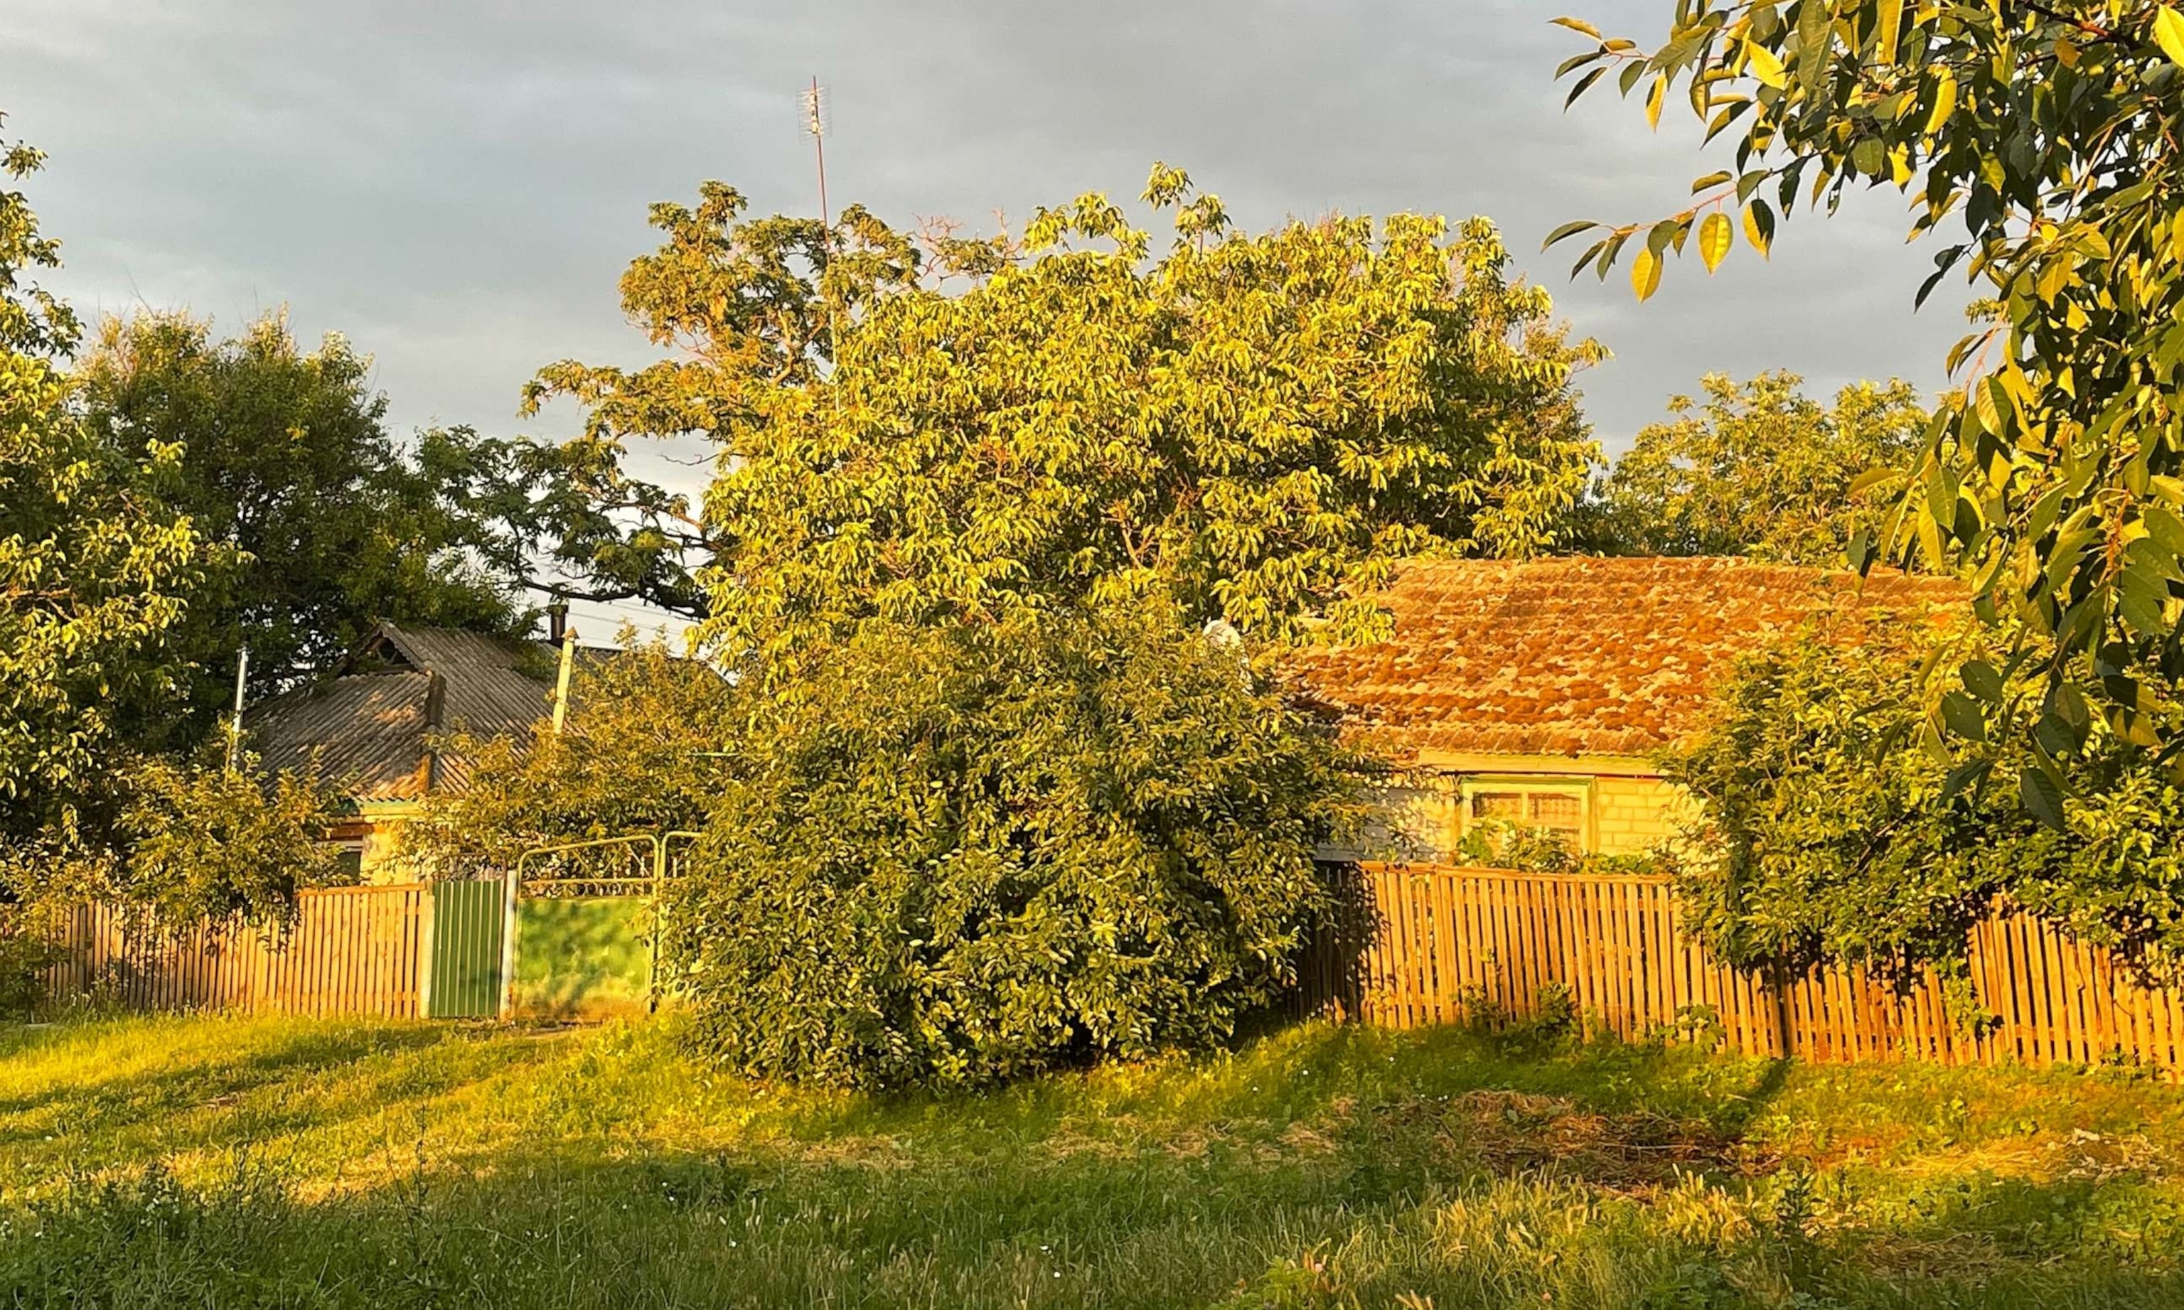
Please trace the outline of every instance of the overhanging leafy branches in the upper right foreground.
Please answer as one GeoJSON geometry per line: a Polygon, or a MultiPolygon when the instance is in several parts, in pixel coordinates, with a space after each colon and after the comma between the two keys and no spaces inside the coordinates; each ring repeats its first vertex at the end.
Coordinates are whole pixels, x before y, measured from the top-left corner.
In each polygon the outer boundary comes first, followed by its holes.
{"type": "MultiPolygon", "coordinates": [[[[1856,555],[1968,563],[1981,614],[2011,640],[2005,668],[2042,675],[2031,703],[1990,701],[1998,718],[2068,725],[2090,701],[2164,755],[2184,745],[2180,63],[2184,15],[2162,0],[1697,0],[1653,52],[1603,39],[1564,63],[1586,70],[1572,98],[1621,68],[1655,122],[1682,85],[1708,138],[1741,133],[1738,172],[1699,179],[1693,207],[1610,229],[1579,260],[1605,277],[1638,238],[1640,297],[1690,234],[1719,264],[1734,207],[1762,253],[1800,194],[1832,210],[1852,186],[1904,190],[1913,236],[1963,227],[1920,299],[1963,266],[1992,293],[1992,321],[1952,352],[1963,386],[1856,555]]],[[[2022,742],[2044,779],[2027,788],[2079,773],[2053,758],[2055,736],[2022,742]]]]}

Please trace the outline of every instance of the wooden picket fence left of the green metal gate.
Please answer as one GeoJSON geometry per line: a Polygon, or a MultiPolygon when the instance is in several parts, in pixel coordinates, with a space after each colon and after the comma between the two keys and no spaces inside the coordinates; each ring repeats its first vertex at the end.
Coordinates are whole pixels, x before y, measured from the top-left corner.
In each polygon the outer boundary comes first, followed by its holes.
{"type": "Polygon", "coordinates": [[[339,886],[297,900],[286,932],[205,926],[159,937],[131,932],[114,906],[74,906],[57,924],[50,993],[111,996],[129,1009],[422,1013],[430,886],[339,886]]]}

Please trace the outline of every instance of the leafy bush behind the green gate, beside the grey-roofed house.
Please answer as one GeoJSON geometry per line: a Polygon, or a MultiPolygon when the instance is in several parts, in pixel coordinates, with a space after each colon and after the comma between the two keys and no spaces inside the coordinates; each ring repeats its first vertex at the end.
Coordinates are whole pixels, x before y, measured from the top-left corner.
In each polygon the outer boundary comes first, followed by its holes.
{"type": "Polygon", "coordinates": [[[426,797],[402,827],[404,858],[432,878],[496,876],[548,841],[701,827],[738,740],[736,688],[714,668],[660,642],[585,657],[566,736],[441,745],[470,782],[426,797]]]}

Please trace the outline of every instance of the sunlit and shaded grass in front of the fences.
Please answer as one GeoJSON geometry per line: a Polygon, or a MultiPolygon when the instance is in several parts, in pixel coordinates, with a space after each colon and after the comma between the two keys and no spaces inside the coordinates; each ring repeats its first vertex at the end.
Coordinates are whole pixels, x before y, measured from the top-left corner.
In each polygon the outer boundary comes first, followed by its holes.
{"type": "Polygon", "coordinates": [[[0,1028],[13,1306],[2184,1306],[2184,1094],[1299,1026],[978,1098],[666,1026],[0,1028]]]}

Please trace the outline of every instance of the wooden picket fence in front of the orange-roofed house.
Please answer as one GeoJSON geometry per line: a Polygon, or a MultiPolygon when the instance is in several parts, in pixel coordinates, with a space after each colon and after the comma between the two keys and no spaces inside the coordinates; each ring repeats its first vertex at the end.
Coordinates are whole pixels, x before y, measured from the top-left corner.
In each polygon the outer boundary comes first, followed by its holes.
{"type": "Polygon", "coordinates": [[[1559,987],[1625,1039],[1719,1026],[1730,1050],[1811,1061],[2184,1070],[2184,991],[2143,987],[2108,950],[2029,915],[1972,934],[1972,989],[1992,1015],[1974,1031],[1931,972],[1898,991],[1863,969],[1725,967],[1684,934],[1666,878],[1363,865],[1350,891],[1350,921],[1304,963],[1306,1011],[1417,1028],[1481,1009],[1535,1015],[1559,987]]]}

